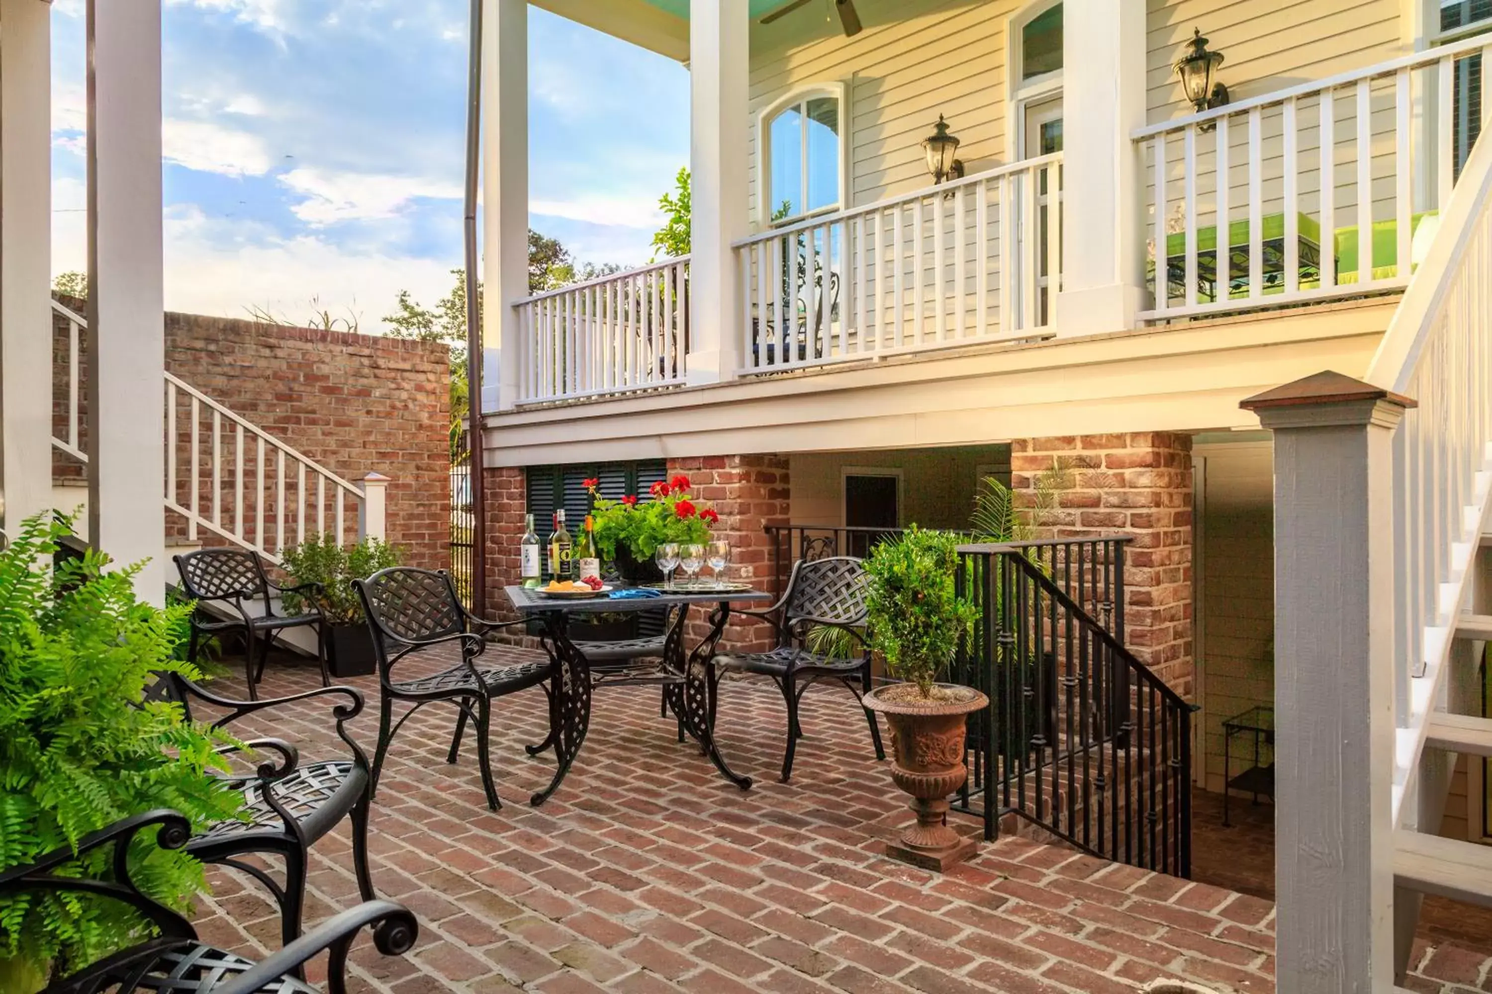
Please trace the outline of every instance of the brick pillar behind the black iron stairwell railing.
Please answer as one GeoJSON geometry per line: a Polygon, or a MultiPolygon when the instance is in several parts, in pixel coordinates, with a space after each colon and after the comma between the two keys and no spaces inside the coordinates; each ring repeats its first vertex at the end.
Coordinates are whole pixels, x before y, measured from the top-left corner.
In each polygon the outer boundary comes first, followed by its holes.
{"type": "Polygon", "coordinates": [[[1192,440],[1168,432],[1022,438],[1012,487],[1035,538],[1125,532],[1125,642],[1192,696],[1192,440]]]}

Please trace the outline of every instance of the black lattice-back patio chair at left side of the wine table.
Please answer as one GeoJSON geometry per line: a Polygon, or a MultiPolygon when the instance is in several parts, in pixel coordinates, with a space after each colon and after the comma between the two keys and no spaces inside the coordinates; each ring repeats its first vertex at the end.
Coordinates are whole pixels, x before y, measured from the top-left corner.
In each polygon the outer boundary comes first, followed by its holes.
{"type": "MultiPolygon", "coordinates": [[[[457,733],[451,739],[448,763],[455,763],[461,751],[461,738],[470,718],[476,726],[477,766],[482,770],[482,788],[486,791],[486,806],[501,808],[497,787],[492,784],[492,763],[488,753],[492,699],[543,687],[549,696],[549,718],[555,721],[555,688],[549,683],[554,663],[549,660],[519,663],[516,666],[480,666],[477,660],[486,650],[488,632],[506,627],[522,627],[527,621],[488,621],[464,607],[457,596],[455,584],[445,571],[394,566],[380,569],[367,580],[354,580],[363,610],[373,633],[373,656],[377,659],[379,680],[379,732],[377,751],[373,756],[373,790],[377,791],[388,747],[412,714],[427,703],[449,700],[457,705],[457,733]],[[394,666],[410,656],[440,645],[455,645],[461,650],[461,665],[440,672],[410,680],[395,680],[394,666]],[[392,724],[394,702],[407,700],[413,706],[392,724]]],[[[534,750],[531,750],[534,751],[534,750]]]]}

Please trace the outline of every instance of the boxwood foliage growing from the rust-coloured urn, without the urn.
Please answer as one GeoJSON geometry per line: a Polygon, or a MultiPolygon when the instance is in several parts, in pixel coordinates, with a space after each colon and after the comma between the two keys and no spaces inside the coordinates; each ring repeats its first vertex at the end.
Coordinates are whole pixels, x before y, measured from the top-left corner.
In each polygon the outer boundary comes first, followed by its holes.
{"type": "Polygon", "coordinates": [[[974,604],[953,583],[958,544],[955,532],[913,525],[876,545],[865,560],[871,648],[885,657],[892,677],[916,684],[927,699],[958,639],[974,624],[974,604]]]}

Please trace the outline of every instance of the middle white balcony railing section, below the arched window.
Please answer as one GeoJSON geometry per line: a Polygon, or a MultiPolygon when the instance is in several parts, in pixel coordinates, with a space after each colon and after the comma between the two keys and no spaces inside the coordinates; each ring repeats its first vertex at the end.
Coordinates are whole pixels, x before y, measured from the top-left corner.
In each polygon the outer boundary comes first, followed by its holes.
{"type": "Polygon", "coordinates": [[[1061,162],[1025,159],[736,243],[739,373],[1044,334],[1061,162]]]}

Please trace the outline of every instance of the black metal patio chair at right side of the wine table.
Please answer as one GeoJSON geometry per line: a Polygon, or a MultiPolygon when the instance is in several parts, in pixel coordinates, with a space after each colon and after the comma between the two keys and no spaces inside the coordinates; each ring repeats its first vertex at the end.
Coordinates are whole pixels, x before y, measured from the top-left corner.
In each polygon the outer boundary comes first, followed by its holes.
{"type": "MultiPolygon", "coordinates": [[[[756,617],[771,621],[777,630],[777,648],[770,653],[718,653],[710,660],[710,686],[718,686],[719,671],[739,669],[747,674],[771,677],[788,705],[788,745],[782,757],[782,782],[792,776],[792,756],[803,726],[798,723],[798,703],[803,694],[821,680],[837,680],[862,700],[870,693],[870,645],[861,627],[865,624],[865,569],[859,559],[833,556],[812,562],[798,560],[792,565],[788,590],[764,611],[733,611],[734,617],[756,617]],[[861,647],[859,657],[834,659],[810,653],[806,648],[809,630],[833,627],[847,632],[861,647]],[[856,687],[858,684],[858,687],[856,687]]],[[[715,721],[715,694],[710,694],[710,723],[715,721]]],[[[861,703],[865,721],[870,724],[870,739],[876,745],[876,759],[886,759],[880,744],[880,727],[873,711],[861,703]]]]}

